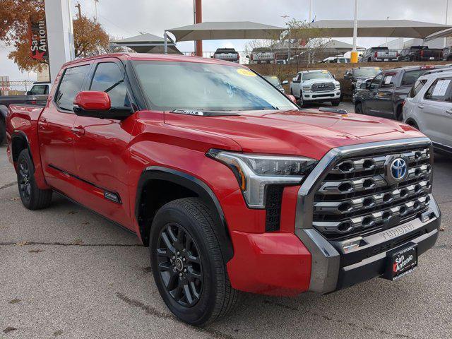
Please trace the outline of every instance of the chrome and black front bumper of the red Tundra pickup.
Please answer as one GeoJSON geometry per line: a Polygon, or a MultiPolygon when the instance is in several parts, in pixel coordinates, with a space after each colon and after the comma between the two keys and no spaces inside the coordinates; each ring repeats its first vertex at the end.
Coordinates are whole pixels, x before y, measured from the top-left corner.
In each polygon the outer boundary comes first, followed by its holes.
{"type": "Polygon", "coordinates": [[[432,248],[438,237],[441,212],[430,196],[429,208],[417,218],[376,234],[363,237],[362,246],[345,253],[340,242],[328,242],[313,228],[295,234],[312,255],[309,291],[329,293],[383,275],[387,252],[417,244],[418,255],[432,248]]]}

